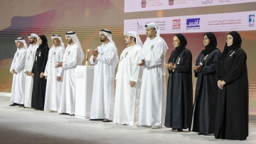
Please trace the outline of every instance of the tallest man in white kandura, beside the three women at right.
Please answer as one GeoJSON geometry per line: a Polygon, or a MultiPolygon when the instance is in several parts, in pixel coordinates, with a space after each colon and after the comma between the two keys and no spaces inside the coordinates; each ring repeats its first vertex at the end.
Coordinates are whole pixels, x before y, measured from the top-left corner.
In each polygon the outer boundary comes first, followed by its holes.
{"type": "Polygon", "coordinates": [[[164,124],[166,109],[165,55],[168,46],[160,37],[156,23],[146,25],[146,41],[142,48],[139,66],[142,74],[142,91],[139,104],[139,126],[160,128],[164,124]]]}

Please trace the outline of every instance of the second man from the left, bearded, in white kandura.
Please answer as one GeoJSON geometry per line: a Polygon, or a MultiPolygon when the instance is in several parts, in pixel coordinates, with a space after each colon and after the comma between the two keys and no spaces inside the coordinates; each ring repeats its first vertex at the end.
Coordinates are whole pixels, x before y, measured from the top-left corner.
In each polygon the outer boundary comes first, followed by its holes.
{"type": "Polygon", "coordinates": [[[30,43],[28,50],[26,51],[25,62],[25,94],[24,94],[24,108],[31,107],[32,90],[33,90],[33,78],[31,77],[31,70],[35,61],[36,49],[38,48],[38,35],[31,33],[28,35],[28,42],[30,43]]]}

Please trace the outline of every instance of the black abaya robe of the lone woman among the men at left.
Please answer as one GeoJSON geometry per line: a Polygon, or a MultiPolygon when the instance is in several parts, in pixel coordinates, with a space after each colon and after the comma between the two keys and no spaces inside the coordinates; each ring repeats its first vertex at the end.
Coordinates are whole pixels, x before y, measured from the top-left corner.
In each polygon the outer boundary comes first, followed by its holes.
{"type": "Polygon", "coordinates": [[[46,97],[46,77],[40,78],[40,74],[46,69],[48,52],[48,45],[44,46],[43,48],[38,48],[36,50],[36,58],[31,71],[34,74],[31,101],[31,107],[33,109],[43,110],[44,108],[44,102],[46,97]]]}

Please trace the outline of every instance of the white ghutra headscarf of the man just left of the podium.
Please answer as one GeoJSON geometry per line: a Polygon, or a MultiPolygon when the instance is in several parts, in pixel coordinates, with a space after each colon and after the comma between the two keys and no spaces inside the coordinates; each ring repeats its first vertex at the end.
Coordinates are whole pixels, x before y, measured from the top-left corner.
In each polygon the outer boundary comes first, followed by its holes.
{"type": "MultiPolygon", "coordinates": [[[[78,45],[78,47],[79,47],[79,53],[78,53],[78,65],[82,65],[82,60],[84,60],[85,59],[85,54],[84,54],[84,52],[82,51],[82,46],[81,46],[81,44],[80,44],[80,41],[78,40],[78,36],[75,34],[75,32],[73,32],[73,31],[69,31],[68,33],[66,33],[66,35],[65,35],[65,38],[67,38],[67,37],[70,37],[72,40],[73,40],[73,42],[76,44],[76,45],[78,45]]],[[[68,46],[70,46],[69,44],[68,44],[68,46]]]]}

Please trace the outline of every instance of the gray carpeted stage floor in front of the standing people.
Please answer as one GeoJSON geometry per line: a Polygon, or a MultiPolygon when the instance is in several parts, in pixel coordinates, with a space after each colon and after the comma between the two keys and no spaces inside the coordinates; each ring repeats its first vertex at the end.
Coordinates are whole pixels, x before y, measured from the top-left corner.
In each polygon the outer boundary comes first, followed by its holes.
{"type": "Polygon", "coordinates": [[[33,109],[9,106],[0,96],[0,144],[8,143],[256,143],[256,121],[250,121],[247,140],[217,140],[213,135],[175,133],[170,128],[153,130],[102,123],[33,109]]]}

